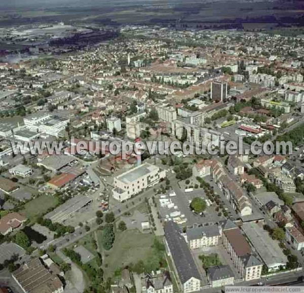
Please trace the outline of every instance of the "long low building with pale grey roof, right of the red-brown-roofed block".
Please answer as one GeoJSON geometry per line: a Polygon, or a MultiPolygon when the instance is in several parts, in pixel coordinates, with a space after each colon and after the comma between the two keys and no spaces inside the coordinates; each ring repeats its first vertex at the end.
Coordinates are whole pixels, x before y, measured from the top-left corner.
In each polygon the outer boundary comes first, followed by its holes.
{"type": "Polygon", "coordinates": [[[260,227],[259,224],[244,223],[242,230],[269,268],[277,266],[277,264],[287,263],[287,257],[283,254],[278,241],[273,240],[268,231],[260,227]]]}

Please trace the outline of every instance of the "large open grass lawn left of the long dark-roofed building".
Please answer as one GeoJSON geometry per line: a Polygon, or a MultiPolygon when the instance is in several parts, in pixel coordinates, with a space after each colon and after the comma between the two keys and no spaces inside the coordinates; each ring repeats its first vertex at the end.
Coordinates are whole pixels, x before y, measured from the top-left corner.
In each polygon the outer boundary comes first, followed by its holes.
{"type": "MultiPolygon", "coordinates": [[[[103,264],[107,266],[106,275],[111,276],[118,268],[148,259],[150,254],[153,254],[153,248],[151,248],[153,240],[153,234],[142,234],[138,230],[117,231],[113,247],[104,251],[103,264]]],[[[101,243],[99,245],[102,246],[101,243]]]]}

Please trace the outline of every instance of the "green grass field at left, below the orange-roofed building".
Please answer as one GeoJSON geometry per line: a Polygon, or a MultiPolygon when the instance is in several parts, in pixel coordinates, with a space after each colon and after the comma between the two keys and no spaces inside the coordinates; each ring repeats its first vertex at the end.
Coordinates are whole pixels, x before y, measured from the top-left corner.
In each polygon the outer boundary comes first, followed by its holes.
{"type": "Polygon", "coordinates": [[[31,219],[35,216],[44,214],[51,207],[57,204],[57,199],[53,196],[41,195],[24,205],[24,209],[21,211],[25,217],[31,219]]]}

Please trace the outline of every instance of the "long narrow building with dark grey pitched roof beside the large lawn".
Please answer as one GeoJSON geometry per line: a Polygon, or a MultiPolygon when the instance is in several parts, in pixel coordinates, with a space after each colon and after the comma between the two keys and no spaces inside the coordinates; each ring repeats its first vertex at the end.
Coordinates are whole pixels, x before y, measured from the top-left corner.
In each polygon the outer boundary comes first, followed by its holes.
{"type": "Polygon", "coordinates": [[[173,221],[168,221],[164,230],[166,241],[181,283],[185,283],[192,277],[201,280],[200,273],[187,243],[179,233],[178,225],[173,221]]]}

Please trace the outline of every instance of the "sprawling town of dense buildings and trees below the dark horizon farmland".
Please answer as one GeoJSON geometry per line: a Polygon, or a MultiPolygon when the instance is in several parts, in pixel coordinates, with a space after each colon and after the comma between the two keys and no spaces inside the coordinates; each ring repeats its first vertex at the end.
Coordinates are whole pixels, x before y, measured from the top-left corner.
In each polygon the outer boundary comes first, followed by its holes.
{"type": "Polygon", "coordinates": [[[1,29],[21,49],[0,51],[0,292],[302,284],[304,34],[289,32],[1,29]],[[101,144],[240,139],[233,155],[101,144]]]}

